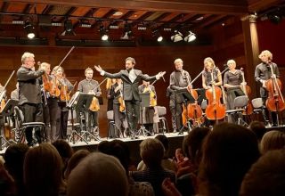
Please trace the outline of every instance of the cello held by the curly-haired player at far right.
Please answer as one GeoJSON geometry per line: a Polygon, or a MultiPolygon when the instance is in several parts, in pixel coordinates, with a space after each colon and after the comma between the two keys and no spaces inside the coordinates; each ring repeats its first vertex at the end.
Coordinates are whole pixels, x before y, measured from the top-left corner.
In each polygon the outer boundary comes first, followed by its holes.
{"type": "Polygon", "coordinates": [[[274,77],[273,66],[270,63],[271,74],[273,78],[265,82],[265,88],[268,91],[268,97],[265,102],[266,108],[271,111],[282,111],[285,109],[285,103],[281,94],[281,80],[274,77]]]}

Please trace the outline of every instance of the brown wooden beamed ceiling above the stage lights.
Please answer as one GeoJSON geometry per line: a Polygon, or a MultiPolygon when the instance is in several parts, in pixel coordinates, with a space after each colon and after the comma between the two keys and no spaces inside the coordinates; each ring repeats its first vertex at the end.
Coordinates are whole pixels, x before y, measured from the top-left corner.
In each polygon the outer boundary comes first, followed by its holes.
{"type": "MultiPolygon", "coordinates": [[[[153,39],[152,30],[170,37],[170,29],[207,32],[224,20],[248,12],[263,12],[282,0],[10,0],[0,2],[0,37],[26,37],[23,23],[29,20],[40,38],[100,40],[99,28],[110,25],[111,40],[120,40],[128,24],[133,39],[153,39]],[[76,36],[61,36],[71,20],[76,36]],[[17,22],[20,24],[17,24],[17,22]],[[53,26],[53,25],[61,26],[53,26]],[[89,27],[84,27],[88,24],[89,27]],[[146,30],[138,27],[145,27],[146,30]]],[[[50,41],[51,42],[51,41],[50,41]]],[[[53,45],[54,43],[49,43],[53,45]]]]}

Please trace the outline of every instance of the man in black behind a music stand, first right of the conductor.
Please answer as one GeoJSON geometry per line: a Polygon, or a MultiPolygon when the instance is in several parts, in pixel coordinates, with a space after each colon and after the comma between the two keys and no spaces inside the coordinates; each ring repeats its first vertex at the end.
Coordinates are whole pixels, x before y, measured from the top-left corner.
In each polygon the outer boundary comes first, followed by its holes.
{"type": "MultiPolygon", "coordinates": [[[[191,88],[191,85],[188,84],[191,82],[191,77],[188,71],[183,70],[183,61],[182,59],[175,59],[175,71],[170,74],[170,89],[174,90],[183,90],[186,88],[191,88]]],[[[178,130],[183,128],[183,120],[182,120],[182,113],[183,113],[183,100],[178,101],[175,96],[175,121],[176,127],[178,130]]],[[[186,107],[186,106],[185,106],[186,107]]],[[[174,125],[172,125],[174,127],[174,125]]],[[[174,132],[176,130],[174,129],[174,132]]]]}

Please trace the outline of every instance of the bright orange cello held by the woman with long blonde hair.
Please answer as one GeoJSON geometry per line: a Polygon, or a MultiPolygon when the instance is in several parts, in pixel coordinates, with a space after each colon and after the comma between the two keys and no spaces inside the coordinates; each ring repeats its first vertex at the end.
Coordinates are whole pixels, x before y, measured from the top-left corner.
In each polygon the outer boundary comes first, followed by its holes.
{"type": "Polygon", "coordinates": [[[222,91],[218,86],[214,86],[214,69],[211,72],[212,86],[206,90],[208,105],[206,107],[206,117],[210,120],[218,120],[225,117],[224,104],[220,102],[222,91]]]}

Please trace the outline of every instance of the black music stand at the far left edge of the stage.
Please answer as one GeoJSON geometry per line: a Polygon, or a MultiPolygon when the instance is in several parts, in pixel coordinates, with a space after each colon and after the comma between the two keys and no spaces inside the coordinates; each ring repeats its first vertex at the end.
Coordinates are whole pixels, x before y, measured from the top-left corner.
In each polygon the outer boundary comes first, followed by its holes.
{"type": "MultiPolygon", "coordinates": [[[[14,106],[18,105],[18,100],[12,100],[9,99],[8,102],[6,102],[4,109],[1,111],[0,117],[3,117],[3,124],[5,121],[5,116],[12,116],[14,112],[14,106]]],[[[3,134],[4,134],[4,125],[3,125],[3,134]]],[[[0,151],[2,151],[3,146],[10,145],[11,143],[4,137],[4,135],[0,134],[0,151]],[[4,143],[2,143],[2,140],[4,140],[4,143]]]]}

